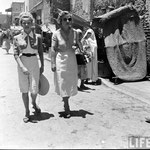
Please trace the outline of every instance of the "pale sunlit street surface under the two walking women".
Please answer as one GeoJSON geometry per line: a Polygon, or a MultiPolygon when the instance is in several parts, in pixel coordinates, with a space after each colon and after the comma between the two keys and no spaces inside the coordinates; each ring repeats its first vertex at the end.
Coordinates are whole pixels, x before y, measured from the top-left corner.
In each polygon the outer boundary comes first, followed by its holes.
{"type": "Polygon", "coordinates": [[[150,106],[105,85],[87,85],[90,90],[70,98],[72,117],[59,117],[63,104],[54,92],[48,61],[44,75],[50,91],[37,98],[42,113],[31,113],[33,121],[25,124],[16,62],[4,51],[0,57],[0,149],[126,149],[130,136],[150,135],[145,122],[150,106]]]}

